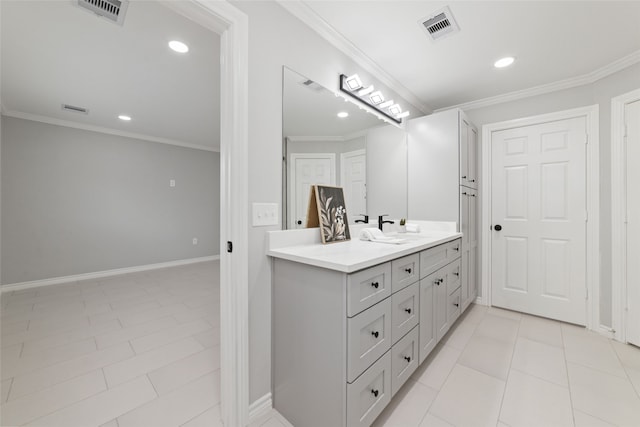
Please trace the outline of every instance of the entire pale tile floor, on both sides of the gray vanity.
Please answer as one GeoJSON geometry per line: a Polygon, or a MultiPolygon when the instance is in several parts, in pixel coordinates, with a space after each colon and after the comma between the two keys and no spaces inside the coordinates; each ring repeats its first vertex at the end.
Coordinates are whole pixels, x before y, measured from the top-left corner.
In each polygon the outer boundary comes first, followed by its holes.
{"type": "MultiPolygon", "coordinates": [[[[218,277],[212,262],[3,294],[0,424],[221,426],[218,277]]],[[[640,426],[640,349],[481,306],[375,422],[615,425],[640,426]]]]}

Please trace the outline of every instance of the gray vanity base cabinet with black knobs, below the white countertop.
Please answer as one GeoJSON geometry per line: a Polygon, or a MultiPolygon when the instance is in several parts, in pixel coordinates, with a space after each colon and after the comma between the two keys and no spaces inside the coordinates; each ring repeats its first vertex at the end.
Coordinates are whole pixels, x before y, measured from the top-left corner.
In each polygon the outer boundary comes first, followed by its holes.
{"type": "Polygon", "coordinates": [[[371,425],[462,313],[462,245],[353,273],[274,258],[274,407],[296,427],[371,425]]]}

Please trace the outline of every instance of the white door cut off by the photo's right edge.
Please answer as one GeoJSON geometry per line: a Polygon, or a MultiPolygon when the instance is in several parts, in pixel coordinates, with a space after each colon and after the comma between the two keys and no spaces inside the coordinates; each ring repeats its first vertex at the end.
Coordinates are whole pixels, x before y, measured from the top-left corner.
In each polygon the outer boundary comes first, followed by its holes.
{"type": "Polygon", "coordinates": [[[627,341],[640,346],[640,101],[625,107],[627,124],[627,341]]]}

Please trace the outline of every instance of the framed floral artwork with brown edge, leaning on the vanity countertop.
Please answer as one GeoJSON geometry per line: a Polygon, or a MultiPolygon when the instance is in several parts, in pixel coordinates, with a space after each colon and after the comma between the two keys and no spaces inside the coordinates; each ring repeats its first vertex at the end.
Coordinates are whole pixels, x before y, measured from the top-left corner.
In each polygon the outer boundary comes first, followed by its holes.
{"type": "Polygon", "coordinates": [[[311,186],[307,227],[320,227],[322,243],[351,240],[342,187],[311,186]]]}

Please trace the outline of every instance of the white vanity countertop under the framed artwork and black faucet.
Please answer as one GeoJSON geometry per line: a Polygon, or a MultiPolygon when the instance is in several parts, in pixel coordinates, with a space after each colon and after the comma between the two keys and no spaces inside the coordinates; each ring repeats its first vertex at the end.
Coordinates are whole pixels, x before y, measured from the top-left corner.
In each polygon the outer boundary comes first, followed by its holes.
{"type": "MultiPolygon", "coordinates": [[[[462,236],[462,233],[455,231],[455,224],[453,227],[439,226],[439,224],[436,224],[435,227],[425,227],[423,224],[428,225],[426,222],[421,223],[420,233],[406,233],[408,240],[401,244],[362,241],[358,236],[360,230],[364,228],[363,226],[349,226],[350,241],[326,245],[320,243],[320,231],[317,228],[271,231],[268,233],[267,255],[344,273],[353,273],[462,236]],[[447,230],[451,228],[452,230],[447,230]],[[289,243],[290,245],[287,245],[289,243]]],[[[403,235],[397,237],[403,238],[403,235]]]]}

